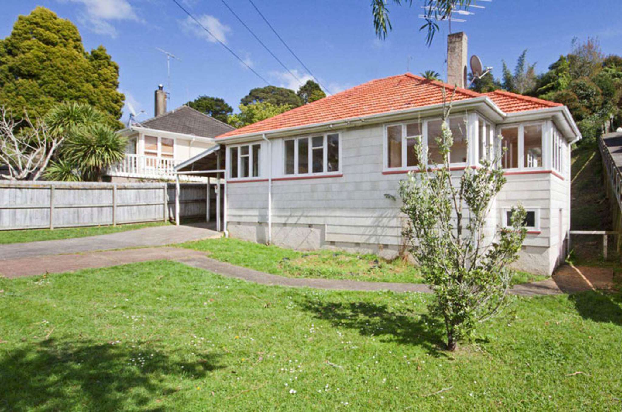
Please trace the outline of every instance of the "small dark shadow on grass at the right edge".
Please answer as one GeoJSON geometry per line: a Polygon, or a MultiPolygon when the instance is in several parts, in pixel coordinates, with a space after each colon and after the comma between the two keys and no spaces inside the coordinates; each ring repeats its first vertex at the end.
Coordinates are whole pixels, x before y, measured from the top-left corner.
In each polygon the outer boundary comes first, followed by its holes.
{"type": "Polygon", "coordinates": [[[569,296],[583,319],[622,326],[622,293],[587,291],[569,296]]]}

